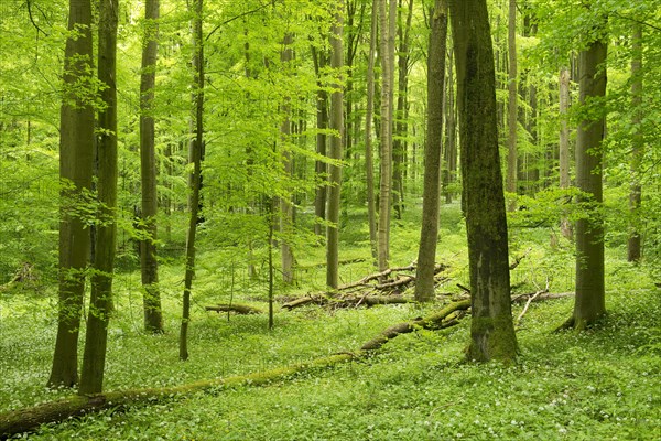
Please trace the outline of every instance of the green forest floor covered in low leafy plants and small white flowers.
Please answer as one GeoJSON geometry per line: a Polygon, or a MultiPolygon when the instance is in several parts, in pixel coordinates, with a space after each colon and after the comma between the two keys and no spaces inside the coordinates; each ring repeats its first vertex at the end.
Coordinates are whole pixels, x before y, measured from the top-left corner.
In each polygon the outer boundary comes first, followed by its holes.
{"type": "MultiPolygon", "coordinates": [[[[356,220],[358,222],[358,220],[356,220]]],[[[354,219],[349,219],[351,225],[354,219]]],[[[451,266],[441,292],[468,284],[458,206],[442,208],[438,261],[451,266]]],[[[395,220],[392,266],[415,260],[418,220],[395,220]]],[[[342,260],[366,258],[366,232],[346,229],[342,260]]],[[[514,292],[573,290],[572,247],[550,228],[510,229],[514,292]]],[[[161,266],[165,334],[142,331],[140,276],[118,275],[109,330],[106,390],[173,386],[230,377],[356,351],[386,327],[442,308],[435,304],[227,315],[205,305],[231,301],[266,310],[266,282],[238,271],[236,250],[207,241],[198,258],[188,362],[178,361],[183,265],[161,266]],[[234,275],[234,276],[232,276],[234,275]]],[[[300,252],[299,284],[277,299],[323,290],[323,247],[300,252]]],[[[532,303],[510,366],[464,361],[469,319],[443,331],[399,336],[372,356],[316,368],[267,386],[219,388],[42,427],[34,440],[657,440],[661,438],[661,291],[644,266],[626,262],[621,244],[607,248],[607,318],[582,334],[553,333],[573,308],[564,298],[532,303]]],[[[243,256],[241,256],[243,258],[243,256]]],[[[368,261],[342,268],[343,282],[373,272],[368,261]]],[[[261,272],[266,271],[261,268],[261,272]]],[[[408,293],[404,293],[407,295],[408,293]]],[[[523,305],[513,305],[514,319],[523,305]]],[[[0,292],[0,412],[71,392],[45,388],[56,331],[52,289],[0,292]]],[[[80,340],[82,342],[84,338],[80,340]]]]}

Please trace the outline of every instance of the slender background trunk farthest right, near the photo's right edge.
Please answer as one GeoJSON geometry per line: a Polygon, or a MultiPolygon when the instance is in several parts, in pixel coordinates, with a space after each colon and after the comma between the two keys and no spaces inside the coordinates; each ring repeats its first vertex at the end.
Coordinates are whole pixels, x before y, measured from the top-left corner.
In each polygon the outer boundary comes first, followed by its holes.
{"type": "Polygon", "coordinates": [[[640,244],[640,232],[638,229],[639,223],[639,208],[641,201],[641,185],[640,185],[640,162],[642,161],[642,149],[643,139],[640,129],[642,122],[642,110],[640,106],[642,104],[642,25],[638,22],[633,24],[633,39],[631,50],[633,52],[631,58],[631,107],[633,111],[633,118],[631,123],[637,128],[635,135],[631,138],[632,152],[631,152],[631,186],[629,191],[629,211],[630,211],[630,226],[629,226],[629,240],[627,244],[627,259],[629,261],[639,261],[641,255],[640,244]]]}

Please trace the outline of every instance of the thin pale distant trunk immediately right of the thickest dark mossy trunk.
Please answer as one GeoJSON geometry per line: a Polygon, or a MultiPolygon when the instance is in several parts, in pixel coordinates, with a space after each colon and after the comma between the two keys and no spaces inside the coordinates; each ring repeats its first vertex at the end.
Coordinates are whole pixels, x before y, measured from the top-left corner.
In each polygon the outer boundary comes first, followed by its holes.
{"type": "MultiPolygon", "coordinates": [[[[517,0],[509,0],[508,14],[508,63],[509,75],[507,82],[507,191],[517,194],[517,0]]],[[[508,209],[516,209],[516,200],[508,204],[508,209]]]]}

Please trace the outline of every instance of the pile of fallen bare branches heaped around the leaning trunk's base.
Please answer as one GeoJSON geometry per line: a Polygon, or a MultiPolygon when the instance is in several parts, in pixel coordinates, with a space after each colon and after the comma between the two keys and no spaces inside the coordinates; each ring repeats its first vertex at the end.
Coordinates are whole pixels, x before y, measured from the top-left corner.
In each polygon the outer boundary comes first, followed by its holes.
{"type": "MultiPolygon", "coordinates": [[[[448,267],[436,263],[434,278],[437,283],[447,280],[442,276],[448,267]]],[[[389,268],[384,271],[375,272],[360,280],[343,284],[333,291],[307,294],[291,300],[282,305],[285,310],[293,310],[305,304],[317,304],[329,308],[357,308],[373,306],[376,304],[409,303],[411,299],[402,294],[415,284],[415,263],[407,267],[389,268]]]]}

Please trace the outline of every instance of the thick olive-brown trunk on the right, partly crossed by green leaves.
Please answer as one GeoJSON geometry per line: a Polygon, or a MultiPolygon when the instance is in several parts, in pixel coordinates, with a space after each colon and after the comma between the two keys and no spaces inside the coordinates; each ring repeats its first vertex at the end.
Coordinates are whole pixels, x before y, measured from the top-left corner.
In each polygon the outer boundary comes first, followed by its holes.
{"type": "MultiPolygon", "coordinates": [[[[593,41],[581,51],[578,69],[582,106],[589,106],[590,99],[606,94],[606,42],[602,40],[593,41]]],[[[602,140],[606,118],[600,109],[590,109],[590,112],[583,114],[576,132],[576,186],[585,195],[578,197],[578,203],[585,206],[585,216],[576,222],[576,300],[574,313],[567,323],[576,330],[583,330],[606,313],[604,219],[600,214],[602,140]]]]}

